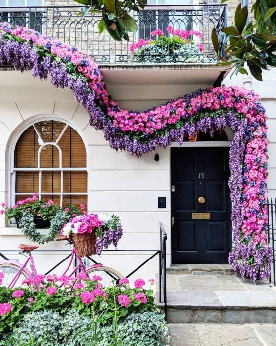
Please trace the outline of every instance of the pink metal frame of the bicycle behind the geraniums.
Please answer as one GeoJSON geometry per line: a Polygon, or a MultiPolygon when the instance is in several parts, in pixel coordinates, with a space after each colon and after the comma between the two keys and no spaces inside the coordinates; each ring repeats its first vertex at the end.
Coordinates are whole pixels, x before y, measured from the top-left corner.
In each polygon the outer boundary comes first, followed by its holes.
{"type": "MultiPolygon", "coordinates": [[[[28,252],[26,252],[26,253],[29,254],[29,256],[27,257],[25,263],[22,264],[22,265],[18,264],[17,262],[10,261],[10,260],[4,261],[4,262],[3,262],[3,263],[6,263],[6,264],[13,264],[13,265],[15,265],[15,266],[17,266],[17,267],[19,268],[19,270],[18,270],[18,272],[16,273],[15,277],[14,277],[14,278],[12,279],[12,281],[9,283],[9,285],[8,285],[9,288],[13,288],[13,287],[14,287],[14,285],[15,285],[15,283],[17,282],[17,280],[18,280],[18,278],[19,278],[19,276],[20,276],[20,274],[21,274],[22,271],[25,271],[26,274],[28,274],[28,276],[29,276],[30,278],[34,278],[36,275],[38,275],[37,270],[36,270],[36,267],[35,267],[35,262],[34,262],[34,259],[33,259],[33,256],[32,256],[32,254],[31,254],[31,252],[28,251],[28,252]],[[28,269],[26,268],[26,266],[27,266],[27,264],[28,264],[29,262],[30,262],[31,271],[28,270],[28,269]]],[[[77,264],[77,265],[73,268],[73,270],[69,273],[69,276],[74,275],[74,274],[77,272],[77,270],[80,270],[81,272],[85,272],[85,266],[84,266],[84,264],[83,264],[81,258],[79,257],[77,251],[75,250],[75,248],[73,248],[73,249],[71,250],[71,256],[70,256],[69,264],[68,264],[67,268],[65,269],[65,271],[62,273],[62,275],[67,274],[67,272],[69,271],[69,268],[70,268],[70,266],[71,266],[71,264],[72,264],[72,262],[73,262],[73,259],[74,259],[75,257],[78,259],[78,264],[77,264]]],[[[103,266],[102,263],[97,263],[97,264],[90,265],[87,269],[90,269],[90,268],[98,268],[98,267],[102,267],[102,266],[103,266]]],[[[41,283],[36,283],[35,285],[37,285],[37,286],[39,287],[39,289],[40,289],[41,287],[43,287],[43,284],[41,284],[41,283]]],[[[63,283],[61,283],[61,284],[59,285],[59,287],[62,287],[62,286],[63,286],[63,283]]],[[[34,288],[35,288],[35,286],[34,286],[34,288]]]]}

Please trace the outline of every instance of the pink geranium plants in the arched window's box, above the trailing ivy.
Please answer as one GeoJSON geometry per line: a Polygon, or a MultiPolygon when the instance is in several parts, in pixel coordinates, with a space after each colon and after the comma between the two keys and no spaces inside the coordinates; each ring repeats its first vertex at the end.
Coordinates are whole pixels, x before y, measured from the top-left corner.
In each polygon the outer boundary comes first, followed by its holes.
{"type": "Polygon", "coordinates": [[[32,197],[17,201],[12,207],[7,207],[7,203],[2,203],[1,214],[5,214],[7,220],[15,218],[20,220],[24,213],[33,214],[43,220],[51,219],[59,209],[53,200],[43,201],[38,199],[38,193],[32,197]]]}

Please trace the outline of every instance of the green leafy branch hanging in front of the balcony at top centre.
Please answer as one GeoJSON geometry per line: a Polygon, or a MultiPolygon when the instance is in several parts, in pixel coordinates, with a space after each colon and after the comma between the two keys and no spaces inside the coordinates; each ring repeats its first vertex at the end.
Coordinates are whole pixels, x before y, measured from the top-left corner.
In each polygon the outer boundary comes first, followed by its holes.
{"type": "Polygon", "coordinates": [[[138,29],[130,12],[139,12],[147,5],[147,0],[74,0],[83,5],[79,15],[99,13],[102,19],[98,24],[99,33],[105,29],[115,40],[129,40],[128,32],[135,33],[138,29]]]}

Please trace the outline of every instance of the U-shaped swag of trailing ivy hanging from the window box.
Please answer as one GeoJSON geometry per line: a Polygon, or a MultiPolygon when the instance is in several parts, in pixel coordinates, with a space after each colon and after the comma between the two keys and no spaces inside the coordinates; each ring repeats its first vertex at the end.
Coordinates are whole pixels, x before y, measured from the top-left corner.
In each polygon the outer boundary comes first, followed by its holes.
{"type": "Polygon", "coordinates": [[[59,210],[51,219],[51,226],[47,235],[40,234],[35,227],[34,215],[24,213],[19,220],[19,226],[25,237],[39,244],[49,243],[61,232],[63,225],[71,219],[71,214],[59,210]]]}

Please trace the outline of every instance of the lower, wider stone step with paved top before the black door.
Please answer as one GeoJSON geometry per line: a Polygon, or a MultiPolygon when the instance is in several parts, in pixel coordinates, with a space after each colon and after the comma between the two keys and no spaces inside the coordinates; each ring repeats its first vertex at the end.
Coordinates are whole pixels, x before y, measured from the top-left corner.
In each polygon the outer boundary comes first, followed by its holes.
{"type": "Polygon", "coordinates": [[[171,323],[276,324],[276,288],[234,275],[170,274],[167,311],[171,323]]]}

